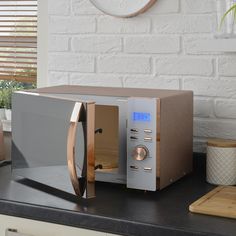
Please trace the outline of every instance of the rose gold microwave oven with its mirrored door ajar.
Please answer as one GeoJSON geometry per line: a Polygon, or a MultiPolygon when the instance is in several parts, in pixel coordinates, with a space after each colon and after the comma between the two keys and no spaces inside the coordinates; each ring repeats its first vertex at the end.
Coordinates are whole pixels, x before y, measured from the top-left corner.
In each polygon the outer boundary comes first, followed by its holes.
{"type": "Polygon", "coordinates": [[[191,91],[56,86],[12,98],[12,173],[81,197],[156,191],[192,170],[191,91]]]}

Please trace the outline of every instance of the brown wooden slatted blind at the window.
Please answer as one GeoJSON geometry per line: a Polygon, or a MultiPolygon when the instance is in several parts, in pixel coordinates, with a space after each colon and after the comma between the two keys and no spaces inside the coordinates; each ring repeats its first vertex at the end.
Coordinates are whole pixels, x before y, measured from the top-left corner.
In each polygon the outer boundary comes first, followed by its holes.
{"type": "Polygon", "coordinates": [[[0,0],[0,80],[36,82],[36,65],[37,0],[0,0]]]}

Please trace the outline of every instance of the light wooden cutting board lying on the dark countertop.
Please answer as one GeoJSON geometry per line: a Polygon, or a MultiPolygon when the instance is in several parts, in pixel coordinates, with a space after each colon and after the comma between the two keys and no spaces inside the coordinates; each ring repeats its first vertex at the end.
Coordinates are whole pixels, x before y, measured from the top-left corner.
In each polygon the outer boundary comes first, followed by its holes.
{"type": "Polygon", "coordinates": [[[236,187],[219,186],[192,203],[189,210],[236,219],[236,187]]]}

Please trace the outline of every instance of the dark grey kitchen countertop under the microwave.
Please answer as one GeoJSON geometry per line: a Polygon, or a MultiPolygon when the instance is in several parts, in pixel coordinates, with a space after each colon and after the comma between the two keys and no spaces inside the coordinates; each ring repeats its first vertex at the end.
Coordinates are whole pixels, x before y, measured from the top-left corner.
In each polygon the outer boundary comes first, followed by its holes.
{"type": "Polygon", "coordinates": [[[96,184],[95,199],[83,200],[25,179],[11,180],[0,168],[0,214],[121,235],[236,235],[236,220],[193,214],[188,206],[214,186],[205,182],[205,159],[194,172],[158,192],[96,184]]]}

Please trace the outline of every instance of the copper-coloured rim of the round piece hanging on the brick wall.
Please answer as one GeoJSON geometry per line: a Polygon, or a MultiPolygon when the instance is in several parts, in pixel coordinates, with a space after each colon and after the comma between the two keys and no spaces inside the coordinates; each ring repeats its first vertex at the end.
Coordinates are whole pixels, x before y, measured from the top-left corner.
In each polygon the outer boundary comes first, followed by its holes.
{"type": "MultiPolygon", "coordinates": [[[[133,0],[135,1],[135,0],[133,0]]],[[[115,14],[115,13],[112,13],[112,12],[107,12],[106,10],[104,10],[102,8],[102,6],[99,6],[97,4],[97,0],[90,0],[90,2],[97,8],[99,9],[100,11],[102,11],[103,13],[107,14],[107,15],[110,15],[110,16],[116,16],[116,17],[122,17],[122,18],[127,18],[127,17],[134,17],[134,16],[137,16],[145,11],[147,11],[149,8],[152,7],[152,5],[156,2],[157,0],[149,0],[149,2],[144,6],[142,7],[141,9],[139,9],[138,11],[136,12],[131,12],[130,14],[127,14],[127,15],[119,15],[119,14],[115,14]]]]}

